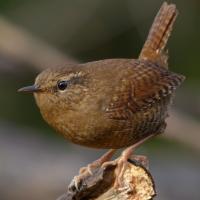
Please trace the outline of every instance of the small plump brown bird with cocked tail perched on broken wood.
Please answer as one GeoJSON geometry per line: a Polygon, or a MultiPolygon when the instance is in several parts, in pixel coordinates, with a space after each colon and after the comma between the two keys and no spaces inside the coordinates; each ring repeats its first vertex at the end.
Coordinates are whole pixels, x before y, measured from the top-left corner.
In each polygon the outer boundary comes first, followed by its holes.
{"type": "Polygon", "coordinates": [[[168,107],[184,77],[168,70],[165,46],[177,17],[174,4],[161,6],[138,59],[67,64],[40,73],[33,92],[45,121],[73,143],[111,149],[93,165],[118,160],[118,180],[136,146],[166,127],[168,107]]]}

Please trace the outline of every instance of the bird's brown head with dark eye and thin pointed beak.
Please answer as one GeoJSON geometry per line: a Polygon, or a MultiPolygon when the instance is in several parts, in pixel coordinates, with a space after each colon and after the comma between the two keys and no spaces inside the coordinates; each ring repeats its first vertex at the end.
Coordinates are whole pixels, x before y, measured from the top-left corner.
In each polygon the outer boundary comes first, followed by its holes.
{"type": "Polygon", "coordinates": [[[19,89],[33,93],[42,114],[53,115],[76,109],[88,91],[87,75],[79,67],[49,68],[41,72],[34,85],[19,89]]]}

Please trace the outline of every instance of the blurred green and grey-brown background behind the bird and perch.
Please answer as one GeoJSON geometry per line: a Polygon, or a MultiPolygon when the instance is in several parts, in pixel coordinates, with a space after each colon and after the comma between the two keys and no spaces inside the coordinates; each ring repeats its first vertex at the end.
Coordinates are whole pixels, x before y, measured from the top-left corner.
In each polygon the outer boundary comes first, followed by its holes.
{"type": "MultiPolygon", "coordinates": [[[[137,58],[160,0],[0,0],[0,199],[56,199],[81,166],[102,151],[65,141],[42,120],[32,95],[18,94],[48,66],[137,58]]],[[[200,199],[200,2],[180,11],[168,49],[170,69],[187,79],[168,129],[148,155],[162,200],[200,199]]]]}

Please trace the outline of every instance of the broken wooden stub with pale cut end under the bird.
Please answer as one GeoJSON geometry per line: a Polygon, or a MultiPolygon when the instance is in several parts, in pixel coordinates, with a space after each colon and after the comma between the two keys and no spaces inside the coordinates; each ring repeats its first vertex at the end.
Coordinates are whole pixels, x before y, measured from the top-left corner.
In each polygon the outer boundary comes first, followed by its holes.
{"type": "Polygon", "coordinates": [[[133,156],[123,175],[123,187],[115,189],[117,160],[108,162],[105,168],[96,168],[75,176],[67,192],[57,200],[148,200],[156,195],[154,181],[147,170],[144,156],[133,156]]]}

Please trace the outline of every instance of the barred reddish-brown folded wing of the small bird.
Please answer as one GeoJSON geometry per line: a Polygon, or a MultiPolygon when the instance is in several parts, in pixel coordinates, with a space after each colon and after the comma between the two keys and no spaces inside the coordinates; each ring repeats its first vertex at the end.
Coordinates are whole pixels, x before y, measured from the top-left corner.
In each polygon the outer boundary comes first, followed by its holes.
{"type": "Polygon", "coordinates": [[[140,63],[115,88],[115,95],[111,97],[106,114],[111,119],[126,120],[132,114],[169,96],[183,79],[182,75],[156,65],[140,63]]]}

